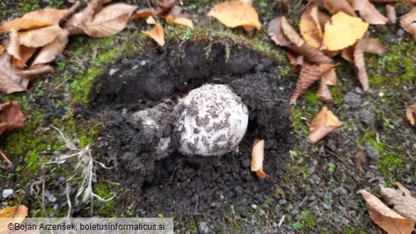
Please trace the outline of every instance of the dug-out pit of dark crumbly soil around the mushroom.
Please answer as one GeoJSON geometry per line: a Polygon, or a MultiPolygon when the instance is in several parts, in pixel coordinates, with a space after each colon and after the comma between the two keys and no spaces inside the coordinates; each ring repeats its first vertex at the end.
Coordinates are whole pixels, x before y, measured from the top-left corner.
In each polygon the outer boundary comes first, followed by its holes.
{"type": "Polygon", "coordinates": [[[99,160],[115,166],[103,176],[129,188],[146,213],[218,215],[233,205],[235,213],[244,215],[252,204],[274,194],[277,173],[292,145],[292,90],[289,80],[272,72],[279,65],[250,48],[221,43],[184,43],[120,58],[90,92],[91,110],[108,126],[101,136],[112,139],[99,160]],[[173,150],[159,159],[155,147],[174,129],[176,103],[207,83],[228,85],[248,107],[248,128],[238,151],[184,156],[173,150]],[[159,115],[159,127],[144,127],[135,119],[140,110],[159,115]],[[265,179],[250,171],[256,138],[265,139],[265,179]]]}

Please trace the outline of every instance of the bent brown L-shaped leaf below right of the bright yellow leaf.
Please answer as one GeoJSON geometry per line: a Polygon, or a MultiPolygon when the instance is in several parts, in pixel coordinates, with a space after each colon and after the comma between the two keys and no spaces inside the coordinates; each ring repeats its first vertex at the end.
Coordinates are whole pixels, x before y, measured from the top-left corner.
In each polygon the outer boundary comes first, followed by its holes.
{"type": "Polygon", "coordinates": [[[364,60],[364,53],[375,53],[381,55],[385,53],[385,47],[380,41],[374,38],[360,39],[354,50],[354,64],[358,70],[358,79],[363,85],[363,90],[366,91],[369,88],[368,75],[366,72],[366,62],[364,60]]]}

